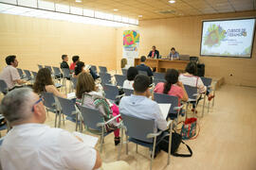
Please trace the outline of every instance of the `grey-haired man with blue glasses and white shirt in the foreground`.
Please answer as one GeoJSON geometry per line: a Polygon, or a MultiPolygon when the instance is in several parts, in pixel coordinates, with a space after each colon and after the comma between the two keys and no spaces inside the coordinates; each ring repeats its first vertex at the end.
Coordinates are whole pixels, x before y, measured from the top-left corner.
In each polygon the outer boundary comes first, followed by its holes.
{"type": "Polygon", "coordinates": [[[21,88],[2,100],[12,127],[0,148],[3,169],[84,169],[101,167],[99,152],[62,128],[44,125],[46,109],[36,93],[21,88]]]}

